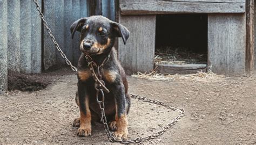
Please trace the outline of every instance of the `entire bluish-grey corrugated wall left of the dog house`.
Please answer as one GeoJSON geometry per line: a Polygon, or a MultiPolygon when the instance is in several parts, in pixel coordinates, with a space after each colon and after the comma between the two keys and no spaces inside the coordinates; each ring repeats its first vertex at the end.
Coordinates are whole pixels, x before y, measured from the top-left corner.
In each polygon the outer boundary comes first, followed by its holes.
{"type": "MultiPolygon", "coordinates": [[[[114,0],[38,0],[53,35],[68,59],[76,66],[79,34],[71,39],[73,21],[94,14],[115,19],[114,0]]],[[[33,0],[0,0],[0,93],[7,88],[8,70],[41,73],[43,69],[63,65],[33,0]],[[43,61],[42,61],[43,60],[43,61]],[[42,67],[42,64],[44,67],[42,67]]]]}

